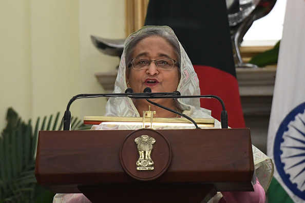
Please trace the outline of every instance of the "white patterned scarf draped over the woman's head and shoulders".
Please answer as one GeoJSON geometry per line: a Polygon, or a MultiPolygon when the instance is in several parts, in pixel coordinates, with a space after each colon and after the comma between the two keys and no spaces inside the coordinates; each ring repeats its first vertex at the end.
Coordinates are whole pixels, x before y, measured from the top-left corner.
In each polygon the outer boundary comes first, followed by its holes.
{"type": "MultiPolygon", "coordinates": [[[[177,39],[174,31],[167,26],[145,26],[140,30],[138,30],[137,32],[130,34],[125,41],[124,51],[121,57],[118,76],[115,83],[115,90],[113,91],[113,93],[124,93],[125,90],[127,89],[125,50],[129,46],[129,43],[139,34],[151,30],[165,31],[168,35],[172,35],[177,39]]],[[[181,93],[181,95],[200,95],[199,80],[197,74],[193,68],[192,63],[190,62],[190,59],[188,58],[187,54],[185,53],[180,43],[179,46],[180,46],[180,58],[181,58],[179,62],[181,78],[177,90],[181,93]]],[[[200,108],[199,98],[180,98],[177,99],[175,104],[177,108],[183,110],[184,111],[183,113],[186,115],[190,115],[194,118],[212,118],[211,111],[200,108]]],[[[105,116],[139,117],[140,114],[136,109],[132,99],[128,97],[111,97],[109,98],[106,105],[105,116]]],[[[216,123],[217,123],[216,125],[218,126],[218,121],[216,121],[216,123]]],[[[130,127],[127,128],[130,129],[130,127]]]]}

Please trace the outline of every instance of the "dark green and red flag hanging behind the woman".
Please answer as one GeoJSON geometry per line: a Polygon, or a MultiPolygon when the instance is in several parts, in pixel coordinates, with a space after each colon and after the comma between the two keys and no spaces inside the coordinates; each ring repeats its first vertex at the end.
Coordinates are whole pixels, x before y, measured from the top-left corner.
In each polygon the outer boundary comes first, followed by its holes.
{"type": "MultiPolygon", "coordinates": [[[[193,63],[202,95],[214,94],[225,104],[228,126],[244,128],[225,0],[149,1],[145,25],[171,27],[193,63]]],[[[220,120],[221,105],[200,99],[220,120]]]]}

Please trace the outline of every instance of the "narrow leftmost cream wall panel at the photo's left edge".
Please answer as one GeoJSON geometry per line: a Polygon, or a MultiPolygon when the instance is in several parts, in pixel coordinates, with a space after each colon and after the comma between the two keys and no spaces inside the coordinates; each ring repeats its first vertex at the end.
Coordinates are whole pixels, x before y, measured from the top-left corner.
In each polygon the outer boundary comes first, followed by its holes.
{"type": "Polygon", "coordinates": [[[23,119],[32,116],[29,1],[0,1],[0,130],[13,107],[23,119]]]}

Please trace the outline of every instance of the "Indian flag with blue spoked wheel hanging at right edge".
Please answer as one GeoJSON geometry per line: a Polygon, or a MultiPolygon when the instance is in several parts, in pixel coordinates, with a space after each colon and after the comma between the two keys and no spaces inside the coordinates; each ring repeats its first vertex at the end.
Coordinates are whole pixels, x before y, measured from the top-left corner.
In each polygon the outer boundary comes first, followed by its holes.
{"type": "Polygon", "coordinates": [[[305,0],[287,1],[268,132],[269,203],[305,202],[305,0]]]}

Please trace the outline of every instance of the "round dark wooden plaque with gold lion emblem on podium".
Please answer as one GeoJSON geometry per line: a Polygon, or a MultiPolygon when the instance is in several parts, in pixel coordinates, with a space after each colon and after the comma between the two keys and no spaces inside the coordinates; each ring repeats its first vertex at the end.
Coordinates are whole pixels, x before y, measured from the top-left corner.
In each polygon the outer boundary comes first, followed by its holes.
{"type": "Polygon", "coordinates": [[[120,163],[124,171],[138,180],[154,180],[168,169],[171,149],[160,132],[142,128],[130,132],[120,149],[120,163]]]}

